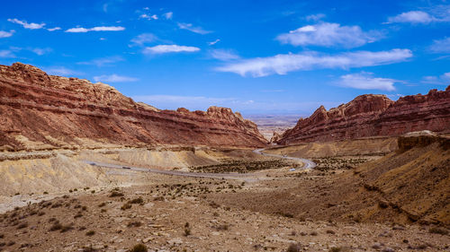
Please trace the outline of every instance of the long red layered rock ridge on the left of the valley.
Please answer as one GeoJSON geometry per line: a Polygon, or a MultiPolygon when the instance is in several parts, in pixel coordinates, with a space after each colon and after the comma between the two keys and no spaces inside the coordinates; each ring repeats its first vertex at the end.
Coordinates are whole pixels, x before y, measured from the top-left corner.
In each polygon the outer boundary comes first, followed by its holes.
{"type": "Polygon", "coordinates": [[[0,151],[158,144],[266,145],[231,109],[159,110],[104,83],[0,65],[0,151]]]}

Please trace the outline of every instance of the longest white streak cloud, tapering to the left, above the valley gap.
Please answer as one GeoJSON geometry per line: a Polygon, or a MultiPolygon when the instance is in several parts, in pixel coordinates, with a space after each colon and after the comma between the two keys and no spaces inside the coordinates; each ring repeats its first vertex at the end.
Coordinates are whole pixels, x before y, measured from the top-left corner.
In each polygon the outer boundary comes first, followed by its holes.
{"type": "Polygon", "coordinates": [[[388,65],[409,59],[409,49],[390,51],[356,51],[338,55],[320,55],[315,52],[284,54],[269,57],[257,57],[240,60],[221,66],[216,70],[242,76],[261,77],[270,74],[287,74],[293,71],[305,71],[319,68],[353,68],[372,65],[388,65]]]}

